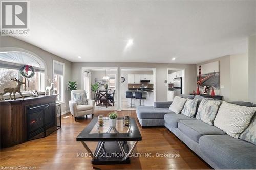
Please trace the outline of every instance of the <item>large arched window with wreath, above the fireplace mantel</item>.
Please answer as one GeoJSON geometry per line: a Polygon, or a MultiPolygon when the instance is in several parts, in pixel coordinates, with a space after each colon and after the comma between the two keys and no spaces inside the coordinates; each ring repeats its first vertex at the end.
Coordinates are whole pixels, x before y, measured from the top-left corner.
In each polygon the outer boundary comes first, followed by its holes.
{"type": "MultiPolygon", "coordinates": [[[[38,56],[31,52],[8,50],[0,52],[0,93],[6,87],[16,87],[17,83],[11,78],[17,78],[25,82],[21,91],[23,94],[31,90],[42,92],[45,90],[45,64],[38,56]],[[24,78],[19,74],[19,68],[23,65],[31,65],[35,69],[32,78],[24,78]]],[[[7,94],[9,95],[9,94],[7,94]]]]}

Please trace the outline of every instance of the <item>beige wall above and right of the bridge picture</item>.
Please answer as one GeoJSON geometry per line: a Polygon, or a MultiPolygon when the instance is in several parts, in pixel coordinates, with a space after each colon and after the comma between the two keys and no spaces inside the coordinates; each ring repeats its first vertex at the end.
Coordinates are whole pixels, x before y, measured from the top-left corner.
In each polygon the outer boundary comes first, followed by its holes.
{"type": "Polygon", "coordinates": [[[248,54],[227,55],[198,65],[219,61],[220,90],[225,101],[249,101],[248,99],[248,54]]]}

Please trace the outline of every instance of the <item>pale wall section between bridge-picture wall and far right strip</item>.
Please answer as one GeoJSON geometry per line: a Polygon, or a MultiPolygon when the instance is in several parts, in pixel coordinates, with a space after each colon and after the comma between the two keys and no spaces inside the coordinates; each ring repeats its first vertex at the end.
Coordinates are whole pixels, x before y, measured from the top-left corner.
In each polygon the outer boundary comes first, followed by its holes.
{"type": "Polygon", "coordinates": [[[248,101],[248,54],[230,55],[230,100],[248,101]]]}

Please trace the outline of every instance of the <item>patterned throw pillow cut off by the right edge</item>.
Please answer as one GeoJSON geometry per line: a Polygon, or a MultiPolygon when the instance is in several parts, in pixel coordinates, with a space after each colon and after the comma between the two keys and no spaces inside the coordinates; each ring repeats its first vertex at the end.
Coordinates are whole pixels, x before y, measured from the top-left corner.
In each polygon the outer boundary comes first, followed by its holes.
{"type": "Polygon", "coordinates": [[[256,114],[251,120],[249,126],[239,136],[240,139],[251,142],[256,145],[256,114]]]}

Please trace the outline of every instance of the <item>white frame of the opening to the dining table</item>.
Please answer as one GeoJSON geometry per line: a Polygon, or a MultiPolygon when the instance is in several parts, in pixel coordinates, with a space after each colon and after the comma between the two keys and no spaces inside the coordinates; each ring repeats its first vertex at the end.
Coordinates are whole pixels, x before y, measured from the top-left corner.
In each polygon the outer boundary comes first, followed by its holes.
{"type": "MultiPolygon", "coordinates": [[[[88,70],[88,69],[116,69],[117,74],[116,74],[116,92],[117,92],[117,110],[119,110],[119,69],[118,67],[82,67],[81,69],[81,88],[84,89],[84,80],[83,80],[83,74],[84,74],[84,70],[88,70]]],[[[92,83],[91,80],[91,76],[90,76],[90,82],[92,83]]],[[[90,87],[91,89],[91,87],[90,87]]],[[[91,92],[91,91],[90,91],[91,92]]],[[[91,98],[93,98],[93,96],[91,96],[91,98]]]]}

